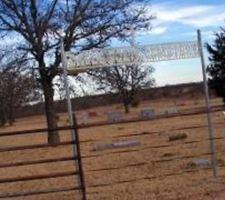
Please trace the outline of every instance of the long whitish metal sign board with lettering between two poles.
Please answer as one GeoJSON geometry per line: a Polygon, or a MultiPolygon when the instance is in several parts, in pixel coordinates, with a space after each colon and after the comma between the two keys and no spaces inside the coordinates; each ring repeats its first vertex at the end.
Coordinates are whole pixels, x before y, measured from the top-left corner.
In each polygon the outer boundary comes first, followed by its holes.
{"type": "Polygon", "coordinates": [[[115,65],[142,64],[198,57],[200,57],[199,48],[198,43],[195,41],[94,49],[79,54],[66,52],[69,73],[115,65]]]}

